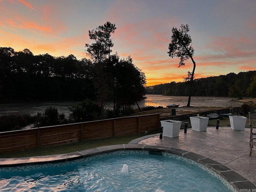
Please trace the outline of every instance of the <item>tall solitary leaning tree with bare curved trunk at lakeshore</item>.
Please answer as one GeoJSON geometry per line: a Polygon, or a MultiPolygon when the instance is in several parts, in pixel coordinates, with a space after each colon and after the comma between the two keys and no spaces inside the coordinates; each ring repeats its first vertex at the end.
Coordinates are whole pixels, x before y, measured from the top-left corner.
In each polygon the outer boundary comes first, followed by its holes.
{"type": "Polygon", "coordinates": [[[185,65],[185,60],[188,60],[189,58],[192,60],[194,67],[192,73],[188,72],[188,78],[190,78],[190,91],[189,91],[189,97],[188,97],[188,104],[187,106],[190,106],[190,100],[192,95],[192,84],[194,81],[194,72],[196,69],[196,62],[193,59],[194,54],[194,48],[192,48],[192,40],[190,35],[188,35],[189,28],[188,25],[181,25],[180,29],[172,28],[172,37],[171,37],[171,43],[168,46],[169,56],[171,58],[179,57],[179,67],[185,65]]]}

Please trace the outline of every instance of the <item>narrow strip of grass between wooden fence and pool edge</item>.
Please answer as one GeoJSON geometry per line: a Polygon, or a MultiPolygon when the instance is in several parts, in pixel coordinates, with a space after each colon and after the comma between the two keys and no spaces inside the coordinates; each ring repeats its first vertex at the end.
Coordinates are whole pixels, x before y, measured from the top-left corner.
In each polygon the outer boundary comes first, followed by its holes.
{"type": "MultiPolygon", "coordinates": [[[[148,134],[159,133],[157,131],[148,134]]],[[[14,157],[31,157],[31,156],[44,156],[53,154],[64,154],[69,152],[76,152],[100,146],[128,144],[131,140],[144,136],[145,134],[136,134],[132,136],[120,136],[105,139],[97,139],[90,141],[79,141],[72,144],[65,144],[60,146],[52,146],[47,148],[36,148],[33,150],[17,151],[17,152],[4,152],[0,153],[0,158],[14,158],[14,157]]]]}

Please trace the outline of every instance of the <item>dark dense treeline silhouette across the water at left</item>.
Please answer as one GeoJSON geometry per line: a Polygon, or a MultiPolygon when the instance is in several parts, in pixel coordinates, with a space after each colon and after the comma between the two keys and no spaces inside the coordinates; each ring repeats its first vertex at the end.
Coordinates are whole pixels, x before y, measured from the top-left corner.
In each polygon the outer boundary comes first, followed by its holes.
{"type": "Polygon", "coordinates": [[[85,59],[0,48],[0,100],[94,100],[95,92],[85,59]]]}

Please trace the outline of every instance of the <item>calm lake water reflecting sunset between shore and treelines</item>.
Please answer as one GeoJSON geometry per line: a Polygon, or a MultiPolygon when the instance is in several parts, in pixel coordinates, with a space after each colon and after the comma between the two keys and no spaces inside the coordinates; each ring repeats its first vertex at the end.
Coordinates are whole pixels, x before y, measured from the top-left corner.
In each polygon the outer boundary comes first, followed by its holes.
{"type": "MultiPolygon", "coordinates": [[[[186,96],[162,96],[162,95],[146,95],[146,99],[138,102],[139,106],[142,108],[144,106],[163,106],[169,104],[179,104],[181,106],[186,106],[188,102],[188,97],[186,96]]],[[[74,105],[76,102],[13,102],[0,104],[0,116],[8,114],[30,114],[36,115],[38,112],[44,112],[44,110],[49,106],[54,106],[58,109],[60,114],[65,114],[67,116],[70,113],[69,107],[74,105]]],[[[232,100],[229,97],[198,97],[192,96],[190,106],[194,107],[240,107],[242,103],[238,100],[232,100]]],[[[112,104],[107,103],[107,108],[111,108],[112,104]]],[[[134,108],[137,108],[135,105],[134,108]]]]}

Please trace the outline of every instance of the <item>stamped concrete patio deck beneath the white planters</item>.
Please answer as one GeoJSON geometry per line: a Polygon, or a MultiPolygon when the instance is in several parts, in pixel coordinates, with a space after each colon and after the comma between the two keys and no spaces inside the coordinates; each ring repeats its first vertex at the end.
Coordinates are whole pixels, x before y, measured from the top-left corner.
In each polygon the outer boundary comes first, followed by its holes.
{"type": "MultiPolygon", "coordinates": [[[[178,148],[200,154],[234,170],[256,185],[256,148],[249,156],[250,129],[232,130],[230,127],[208,127],[206,132],[187,130],[179,137],[170,138],[159,134],[144,136],[130,143],[178,148]]],[[[256,191],[256,190],[255,190],[256,191]]]]}

